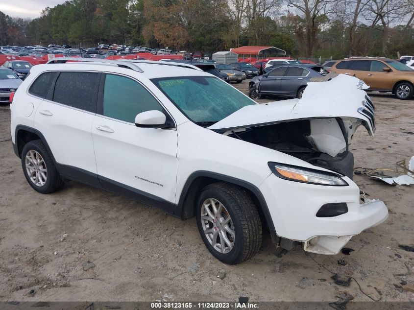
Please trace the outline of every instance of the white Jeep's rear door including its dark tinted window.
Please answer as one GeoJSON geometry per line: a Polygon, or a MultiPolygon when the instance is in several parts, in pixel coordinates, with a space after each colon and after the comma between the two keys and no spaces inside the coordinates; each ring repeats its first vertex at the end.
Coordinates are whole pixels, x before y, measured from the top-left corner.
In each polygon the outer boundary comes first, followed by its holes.
{"type": "Polygon", "coordinates": [[[76,178],[96,176],[91,127],[97,111],[98,72],[60,72],[36,111],[35,128],[44,135],[59,171],[76,178]],[[92,175],[92,174],[93,175],[92,175]]]}

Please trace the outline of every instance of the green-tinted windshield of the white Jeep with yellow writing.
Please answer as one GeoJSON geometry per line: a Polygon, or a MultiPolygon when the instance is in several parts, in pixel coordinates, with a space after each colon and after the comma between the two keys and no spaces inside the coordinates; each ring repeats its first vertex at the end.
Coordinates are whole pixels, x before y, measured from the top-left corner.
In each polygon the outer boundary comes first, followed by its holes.
{"type": "Polygon", "coordinates": [[[215,77],[168,77],[151,81],[186,117],[195,123],[207,123],[206,126],[246,105],[256,104],[233,86],[215,77]]]}

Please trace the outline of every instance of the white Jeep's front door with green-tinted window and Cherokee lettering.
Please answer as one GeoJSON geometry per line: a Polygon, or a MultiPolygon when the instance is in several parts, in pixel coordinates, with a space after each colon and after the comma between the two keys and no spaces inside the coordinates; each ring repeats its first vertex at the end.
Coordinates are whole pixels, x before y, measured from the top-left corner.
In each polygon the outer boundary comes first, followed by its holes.
{"type": "Polygon", "coordinates": [[[135,117],[141,112],[167,112],[138,81],[116,74],[105,74],[103,79],[102,98],[92,124],[101,186],[172,213],[177,131],[135,126],[135,117]]]}

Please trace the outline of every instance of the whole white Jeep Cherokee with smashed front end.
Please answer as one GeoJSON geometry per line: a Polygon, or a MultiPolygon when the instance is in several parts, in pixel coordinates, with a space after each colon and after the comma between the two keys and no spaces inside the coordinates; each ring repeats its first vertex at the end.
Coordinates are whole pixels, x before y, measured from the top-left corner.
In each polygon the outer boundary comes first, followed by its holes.
{"type": "Polygon", "coordinates": [[[256,104],[189,65],[68,60],[33,67],[10,105],[14,150],[36,191],[75,180],[195,216],[229,264],[251,258],[265,228],[282,248],[336,254],[388,216],[382,201],[360,204],[352,181],[351,137],[361,124],[375,129],[354,77],[256,104]]]}

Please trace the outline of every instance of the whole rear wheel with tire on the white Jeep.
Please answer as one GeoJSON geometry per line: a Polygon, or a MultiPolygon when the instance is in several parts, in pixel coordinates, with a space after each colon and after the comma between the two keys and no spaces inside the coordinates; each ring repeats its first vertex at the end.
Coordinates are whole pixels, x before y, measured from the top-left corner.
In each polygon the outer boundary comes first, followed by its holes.
{"type": "Polygon", "coordinates": [[[65,184],[41,140],[30,141],[24,145],[22,168],[30,186],[42,194],[58,191],[65,184]]]}

